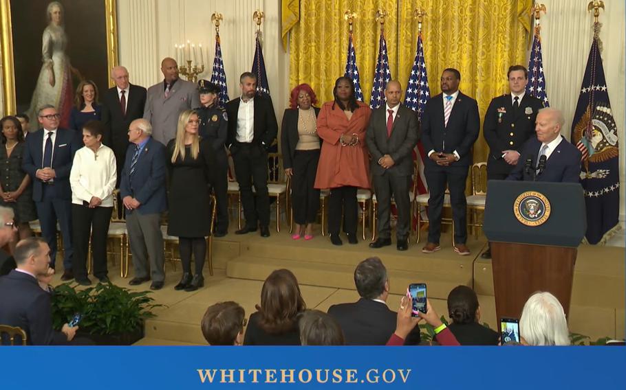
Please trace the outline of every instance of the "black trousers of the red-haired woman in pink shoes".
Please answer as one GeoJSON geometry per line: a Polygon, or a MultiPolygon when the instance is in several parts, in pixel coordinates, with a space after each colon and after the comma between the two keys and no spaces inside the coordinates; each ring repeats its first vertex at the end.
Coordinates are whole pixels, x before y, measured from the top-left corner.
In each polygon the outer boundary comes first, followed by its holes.
{"type": "Polygon", "coordinates": [[[298,225],[315,222],[319,209],[319,190],[313,185],[319,163],[319,149],[296,150],[294,174],[291,177],[291,202],[294,221],[298,225]]]}

